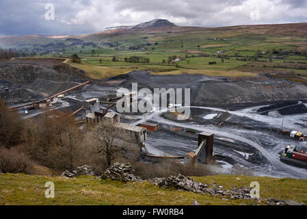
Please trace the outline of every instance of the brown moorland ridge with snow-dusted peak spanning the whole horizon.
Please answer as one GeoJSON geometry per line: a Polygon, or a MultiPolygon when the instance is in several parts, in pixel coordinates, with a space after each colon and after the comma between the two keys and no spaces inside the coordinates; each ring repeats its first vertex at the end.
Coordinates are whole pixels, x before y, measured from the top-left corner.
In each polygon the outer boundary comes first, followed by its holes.
{"type": "MultiPolygon", "coordinates": [[[[34,47],[40,47],[46,44],[65,43],[69,44],[66,38],[77,38],[83,42],[94,42],[101,44],[101,42],[114,42],[114,36],[118,43],[126,43],[127,39],[131,39],[130,45],[143,44],[144,40],[136,42],[139,37],[144,38],[144,34],[151,34],[151,41],[159,41],[165,38],[165,34],[171,34],[172,38],[181,40],[182,36],[185,38],[193,38],[198,40],[201,44],[207,38],[267,38],[268,36],[287,36],[297,39],[297,47],[303,49],[307,48],[307,23],[286,23],[273,25],[239,25],[232,27],[194,27],[194,26],[178,26],[174,25],[165,19],[155,19],[145,23],[140,23],[133,26],[118,26],[109,27],[104,31],[94,34],[82,34],[77,36],[57,36],[57,35],[27,35],[27,36],[0,36],[0,47],[5,48],[25,48],[32,51],[34,47]],[[124,36],[124,37],[122,37],[124,36]]],[[[265,42],[265,41],[264,41],[265,42]]],[[[289,44],[292,41],[285,42],[289,44]]]]}

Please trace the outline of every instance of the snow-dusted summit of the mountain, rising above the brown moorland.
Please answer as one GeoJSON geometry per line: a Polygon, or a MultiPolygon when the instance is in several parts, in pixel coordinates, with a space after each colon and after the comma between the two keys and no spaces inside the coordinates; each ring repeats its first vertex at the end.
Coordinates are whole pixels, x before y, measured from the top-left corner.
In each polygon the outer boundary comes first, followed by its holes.
{"type": "Polygon", "coordinates": [[[150,29],[150,28],[159,28],[159,27],[176,27],[174,23],[171,23],[165,19],[155,19],[145,23],[139,23],[138,25],[133,26],[118,26],[118,27],[107,27],[105,30],[114,30],[114,29],[150,29]]]}

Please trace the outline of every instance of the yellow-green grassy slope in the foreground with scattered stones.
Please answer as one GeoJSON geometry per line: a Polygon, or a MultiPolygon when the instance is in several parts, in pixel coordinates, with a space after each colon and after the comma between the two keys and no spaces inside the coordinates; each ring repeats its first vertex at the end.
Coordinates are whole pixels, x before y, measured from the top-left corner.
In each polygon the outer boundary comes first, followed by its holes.
{"type": "MultiPolygon", "coordinates": [[[[217,175],[195,177],[196,181],[223,185],[225,189],[260,183],[261,198],[277,198],[284,201],[307,203],[306,179],[273,179],[269,177],[245,177],[217,175]]],[[[122,183],[98,181],[93,177],[68,179],[23,174],[0,175],[0,205],[253,205],[246,200],[228,200],[207,194],[167,190],[150,183],[122,183]],[[55,183],[55,198],[45,198],[44,185],[55,183]]]]}

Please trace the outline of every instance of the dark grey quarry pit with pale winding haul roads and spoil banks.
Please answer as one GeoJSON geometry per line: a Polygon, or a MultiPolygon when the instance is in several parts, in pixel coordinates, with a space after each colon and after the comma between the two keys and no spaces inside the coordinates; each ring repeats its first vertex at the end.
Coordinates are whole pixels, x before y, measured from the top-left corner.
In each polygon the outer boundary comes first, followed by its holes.
{"type": "MultiPolygon", "coordinates": [[[[62,59],[16,59],[0,61],[0,96],[11,106],[31,103],[88,81],[83,70],[63,63],[62,59]]],[[[287,144],[307,150],[306,142],[294,142],[278,131],[306,130],[307,87],[302,83],[273,79],[209,77],[205,75],[152,75],[135,71],[103,80],[92,80],[80,90],[68,92],[54,110],[79,109],[92,97],[106,100],[119,88],[190,88],[191,117],[173,120],[168,109],[147,114],[120,114],[124,123],[139,125],[144,120],[159,123],[161,129],[148,131],[146,148],[153,155],[184,155],[197,149],[201,131],[215,134],[218,172],[229,174],[235,166],[257,176],[306,178],[307,170],[283,164],[280,151],[287,144]],[[265,112],[265,113],[259,113],[265,112]],[[223,127],[219,123],[224,122],[223,127]],[[182,127],[172,131],[172,127],[182,127]],[[187,131],[189,130],[189,131],[187,131]],[[193,130],[193,132],[191,132],[193,130]]],[[[111,108],[116,112],[116,108],[111,108]]],[[[41,113],[25,114],[31,118],[41,113]]]]}

